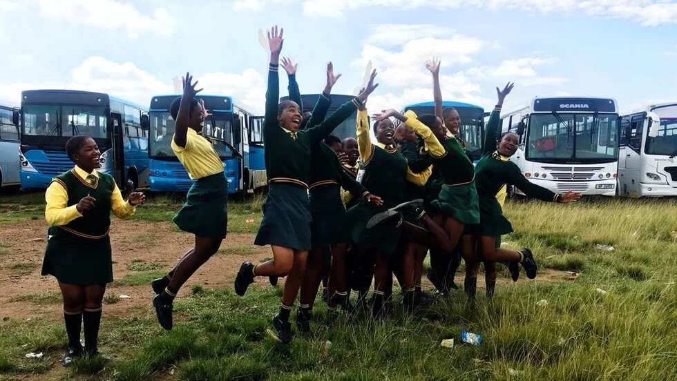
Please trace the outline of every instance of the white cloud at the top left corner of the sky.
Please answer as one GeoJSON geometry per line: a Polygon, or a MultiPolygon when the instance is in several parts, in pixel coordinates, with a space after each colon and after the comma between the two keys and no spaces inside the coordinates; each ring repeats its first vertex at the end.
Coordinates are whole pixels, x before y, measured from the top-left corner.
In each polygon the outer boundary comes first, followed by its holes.
{"type": "Polygon", "coordinates": [[[40,0],[39,7],[43,17],[98,28],[122,28],[130,37],[137,37],[141,32],[171,35],[174,24],[164,8],[155,8],[149,16],[132,3],[115,0],[40,0]]]}

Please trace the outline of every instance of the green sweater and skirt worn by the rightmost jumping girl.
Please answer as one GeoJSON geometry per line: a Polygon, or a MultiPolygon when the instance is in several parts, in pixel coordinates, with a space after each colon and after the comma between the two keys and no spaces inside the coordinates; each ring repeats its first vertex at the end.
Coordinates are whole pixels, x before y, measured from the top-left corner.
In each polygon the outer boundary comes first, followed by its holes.
{"type": "Polygon", "coordinates": [[[503,215],[502,204],[497,198],[499,190],[508,185],[517,186],[528,197],[550,202],[558,202],[560,199],[560,195],[529,182],[517,164],[508,161],[508,157],[503,157],[495,151],[493,147],[500,126],[500,113],[499,106],[491,113],[486,128],[484,152],[475,168],[481,217],[479,224],[466,226],[466,233],[473,235],[499,236],[513,231],[513,226],[503,215]]]}

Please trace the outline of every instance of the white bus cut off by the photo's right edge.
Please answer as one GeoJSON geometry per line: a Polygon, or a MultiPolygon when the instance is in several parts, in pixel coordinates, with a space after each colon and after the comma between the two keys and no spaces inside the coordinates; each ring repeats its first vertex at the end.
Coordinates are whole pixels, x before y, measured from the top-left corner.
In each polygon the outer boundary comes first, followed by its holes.
{"type": "Polygon", "coordinates": [[[654,104],[622,117],[618,193],[677,196],[677,103],[654,104]]]}

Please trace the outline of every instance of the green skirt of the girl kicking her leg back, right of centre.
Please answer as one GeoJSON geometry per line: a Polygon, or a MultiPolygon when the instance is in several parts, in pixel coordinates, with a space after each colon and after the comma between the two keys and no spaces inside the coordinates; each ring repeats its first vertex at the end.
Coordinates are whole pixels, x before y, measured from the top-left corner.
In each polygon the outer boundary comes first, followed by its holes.
{"type": "Polygon", "coordinates": [[[439,197],[430,202],[432,208],[466,225],[479,223],[479,206],[475,182],[464,185],[444,185],[439,197]]]}

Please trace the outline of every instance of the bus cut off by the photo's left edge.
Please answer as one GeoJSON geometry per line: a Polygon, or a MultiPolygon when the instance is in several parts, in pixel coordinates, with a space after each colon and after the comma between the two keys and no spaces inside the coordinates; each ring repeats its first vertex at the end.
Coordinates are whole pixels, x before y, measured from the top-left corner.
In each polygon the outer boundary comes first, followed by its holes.
{"type": "Polygon", "coordinates": [[[0,105],[0,187],[21,184],[19,181],[18,124],[13,108],[0,105]]]}

